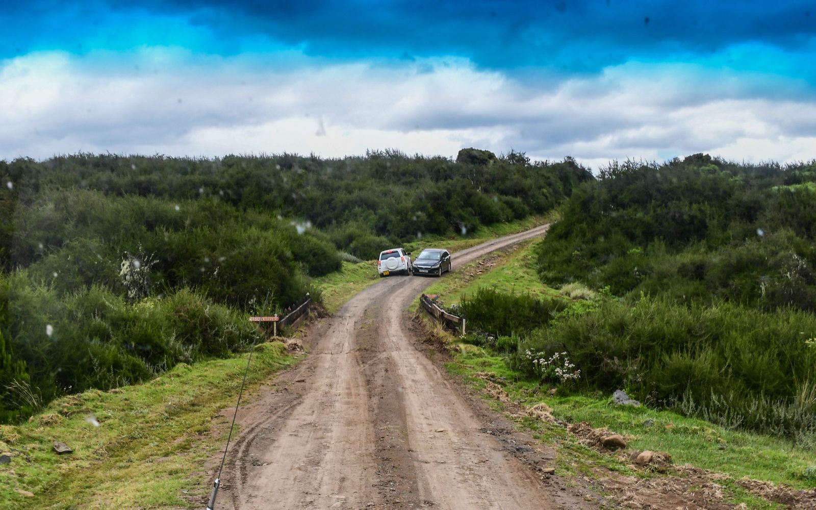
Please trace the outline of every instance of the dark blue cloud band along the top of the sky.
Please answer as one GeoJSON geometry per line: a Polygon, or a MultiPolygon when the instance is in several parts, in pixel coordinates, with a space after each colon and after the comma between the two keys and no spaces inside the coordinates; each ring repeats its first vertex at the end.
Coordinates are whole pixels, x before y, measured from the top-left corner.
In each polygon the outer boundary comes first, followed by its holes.
{"type": "MultiPolygon", "coordinates": [[[[122,49],[135,44],[141,35],[142,44],[231,55],[246,48],[247,39],[264,38],[270,45],[294,47],[329,59],[456,55],[482,68],[532,66],[584,73],[629,60],[708,60],[726,47],[743,43],[799,51],[816,36],[816,12],[810,11],[816,11],[813,2],[799,0],[162,0],[67,5],[41,0],[12,2],[3,8],[0,18],[17,37],[6,38],[0,51],[9,56],[32,49],[82,51],[106,45],[122,49]],[[151,17],[161,18],[162,23],[122,35],[121,40],[108,29],[124,20],[151,17]],[[173,20],[202,30],[202,36],[172,29],[173,20]]],[[[127,27],[122,29],[127,33],[127,27]]],[[[263,47],[255,40],[256,49],[258,45],[263,47]]]]}

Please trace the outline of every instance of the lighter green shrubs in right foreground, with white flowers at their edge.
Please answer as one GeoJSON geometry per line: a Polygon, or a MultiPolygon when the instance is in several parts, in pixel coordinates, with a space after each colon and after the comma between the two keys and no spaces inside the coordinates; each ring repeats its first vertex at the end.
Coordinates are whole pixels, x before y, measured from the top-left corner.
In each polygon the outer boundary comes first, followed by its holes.
{"type": "Polygon", "coordinates": [[[816,432],[814,330],[813,314],[790,309],[607,299],[534,330],[520,351],[568,353],[592,388],[626,388],[651,405],[793,435],[816,432]]]}

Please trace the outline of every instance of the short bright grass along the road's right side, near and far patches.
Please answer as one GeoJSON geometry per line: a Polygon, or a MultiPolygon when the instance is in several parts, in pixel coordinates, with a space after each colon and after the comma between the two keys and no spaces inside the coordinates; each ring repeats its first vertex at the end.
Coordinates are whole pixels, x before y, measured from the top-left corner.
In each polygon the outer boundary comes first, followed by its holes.
{"type": "MultiPolygon", "coordinates": [[[[428,289],[440,295],[446,304],[459,302],[479,286],[495,286],[497,290],[530,292],[536,295],[557,295],[556,290],[538,281],[532,259],[532,244],[517,246],[494,261],[491,270],[476,274],[463,282],[459,278],[443,278],[428,289]]],[[[482,264],[481,267],[484,267],[482,264]]],[[[466,278],[479,261],[463,268],[466,278]]],[[[526,379],[521,372],[508,366],[508,358],[490,348],[459,344],[449,337],[453,361],[447,365],[450,373],[458,375],[482,397],[490,400],[496,410],[503,405],[487,391],[491,380],[501,381],[508,401],[532,407],[541,402],[553,410],[553,415],[569,423],[588,422],[593,428],[609,428],[628,439],[630,450],[664,451],[672,455],[675,465],[691,464],[729,477],[720,483],[729,491],[731,500],[746,503],[749,508],[776,508],[752,494],[734,481],[743,477],[784,484],[797,489],[811,489],[816,479],[809,477],[808,468],[816,465],[816,451],[797,448],[791,441],[750,432],[728,430],[700,419],[690,419],[672,411],[650,410],[645,407],[615,406],[610,396],[588,392],[568,392],[556,395],[547,385],[526,379]]],[[[557,469],[562,474],[601,478],[609,471],[637,477],[659,477],[657,473],[632,468],[623,456],[601,455],[579,441],[558,424],[539,419],[516,418],[518,427],[526,428],[541,441],[557,446],[557,469]],[[599,467],[605,470],[599,470],[599,467]]],[[[813,471],[811,468],[810,471],[813,471]]]]}

